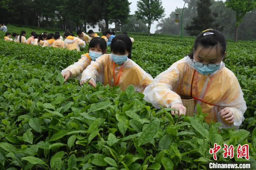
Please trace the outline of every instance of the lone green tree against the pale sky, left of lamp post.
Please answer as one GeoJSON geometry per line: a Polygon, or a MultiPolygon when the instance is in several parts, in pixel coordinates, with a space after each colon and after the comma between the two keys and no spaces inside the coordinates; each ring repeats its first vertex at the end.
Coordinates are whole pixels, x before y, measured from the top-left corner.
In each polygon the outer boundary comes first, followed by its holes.
{"type": "Polygon", "coordinates": [[[161,0],[140,0],[137,2],[135,16],[148,24],[148,35],[150,35],[151,24],[165,16],[165,8],[161,0]]]}

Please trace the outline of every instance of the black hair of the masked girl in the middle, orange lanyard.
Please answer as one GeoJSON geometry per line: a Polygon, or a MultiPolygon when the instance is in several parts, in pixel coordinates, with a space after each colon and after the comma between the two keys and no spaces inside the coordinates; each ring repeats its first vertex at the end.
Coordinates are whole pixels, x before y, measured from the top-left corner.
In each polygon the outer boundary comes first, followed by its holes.
{"type": "Polygon", "coordinates": [[[124,34],[118,34],[112,39],[110,51],[114,53],[125,54],[128,51],[128,58],[132,59],[132,41],[124,34]]]}

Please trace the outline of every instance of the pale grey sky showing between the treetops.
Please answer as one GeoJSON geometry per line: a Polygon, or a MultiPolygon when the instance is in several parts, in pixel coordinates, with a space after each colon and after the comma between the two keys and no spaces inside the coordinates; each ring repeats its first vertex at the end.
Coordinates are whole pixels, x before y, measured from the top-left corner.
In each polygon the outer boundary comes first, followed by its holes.
{"type": "MultiPolygon", "coordinates": [[[[131,3],[131,5],[130,5],[131,13],[130,14],[134,14],[134,11],[137,10],[137,1],[138,0],[129,0],[129,2],[131,3]]],[[[162,5],[165,8],[165,17],[164,18],[168,18],[170,13],[172,13],[172,11],[174,11],[176,9],[176,7],[183,8],[184,1],[183,0],[162,0],[162,5]]],[[[188,5],[186,4],[185,7],[188,7],[188,5]]],[[[151,25],[151,29],[150,29],[151,33],[155,33],[155,31],[157,30],[157,28],[156,28],[157,24],[158,24],[158,22],[155,21],[151,25]]]]}

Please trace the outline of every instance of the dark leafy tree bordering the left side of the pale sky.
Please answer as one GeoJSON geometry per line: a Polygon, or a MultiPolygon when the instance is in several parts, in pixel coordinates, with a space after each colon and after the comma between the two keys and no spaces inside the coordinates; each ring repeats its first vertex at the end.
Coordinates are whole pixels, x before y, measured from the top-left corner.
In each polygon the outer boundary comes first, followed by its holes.
{"type": "Polygon", "coordinates": [[[117,24],[125,24],[128,22],[130,7],[128,0],[112,0],[108,7],[110,22],[115,23],[115,31],[117,31],[117,24]]]}

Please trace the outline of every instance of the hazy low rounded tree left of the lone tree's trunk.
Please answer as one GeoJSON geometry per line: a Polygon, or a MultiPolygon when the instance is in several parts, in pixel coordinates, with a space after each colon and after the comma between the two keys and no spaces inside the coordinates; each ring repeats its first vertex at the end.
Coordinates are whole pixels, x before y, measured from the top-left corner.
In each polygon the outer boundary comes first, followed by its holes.
{"type": "Polygon", "coordinates": [[[128,18],[128,22],[124,24],[122,27],[123,31],[126,32],[147,32],[147,25],[143,23],[142,20],[138,20],[134,15],[130,15],[128,18]],[[139,27],[135,27],[134,24],[139,24],[139,27]]]}

